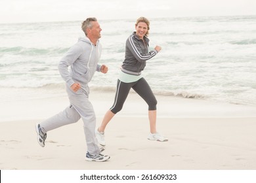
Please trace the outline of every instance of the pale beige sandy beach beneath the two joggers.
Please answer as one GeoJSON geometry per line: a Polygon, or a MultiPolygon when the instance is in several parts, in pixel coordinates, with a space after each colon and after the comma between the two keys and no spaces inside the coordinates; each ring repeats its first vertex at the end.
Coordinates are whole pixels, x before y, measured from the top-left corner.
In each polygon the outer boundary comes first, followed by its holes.
{"type": "MultiPolygon", "coordinates": [[[[27,89],[20,90],[26,93],[27,89]]],[[[54,94],[51,90],[33,90],[21,97],[14,93],[12,90],[0,102],[1,170],[256,169],[256,107],[253,106],[156,96],[158,131],[169,139],[156,142],[146,139],[149,131],[146,103],[131,93],[123,110],[106,128],[104,154],[111,158],[96,163],[85,161],[87,147],[81,120],[49,131],[44,148],[37,143],[35,122],[68,106],[64,91],[54,94]],[[41,95],[47,92],[51,96],[41,95]]],[[[91,92],[97,125],[113,99],[114,92],[91,92]]]]}

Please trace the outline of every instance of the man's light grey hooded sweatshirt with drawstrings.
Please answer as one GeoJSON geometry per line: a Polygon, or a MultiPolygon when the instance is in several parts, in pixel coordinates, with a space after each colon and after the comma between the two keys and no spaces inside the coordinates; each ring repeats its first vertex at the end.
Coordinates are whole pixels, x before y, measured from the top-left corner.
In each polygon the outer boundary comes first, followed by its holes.
{"type": "Polygon", "coordinates": [[[89,94],[88,83],[95,71],[100,71],[98,65],[102,46],[99,41],[94,45],[88,37],[81,37],[78,42],[68,50],[58,64],[58,71],[68,87],[74,83],[81,84],[81,90],[89,94]],[[71,66],[70,71],[68,67],[71,66]]]}

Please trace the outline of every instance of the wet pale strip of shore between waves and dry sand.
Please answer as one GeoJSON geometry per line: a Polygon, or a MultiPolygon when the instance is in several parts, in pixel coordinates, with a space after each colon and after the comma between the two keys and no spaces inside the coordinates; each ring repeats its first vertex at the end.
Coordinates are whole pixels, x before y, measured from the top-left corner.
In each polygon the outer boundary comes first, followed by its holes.
{"type": "MultiPolygon", "coordinates": [[[[0,123],[14,120],[43,120],[70,105],[64,88],[55,90],[3,90],[0,97],[0,123]],[[19,95],[17,95],[20,91],[19,95]]],[[[89,100],[97,117],[104,116],[112,106],[115,92],[92,91],[89,100]]],[[[256,106],[217,103],[206,99],[189,99],[156,95],[158,118],[251,118],[256,117],[256,106]]],[[[129,93],[117,116],[147,117],[148,106],[137,93],[129,93]]]]}

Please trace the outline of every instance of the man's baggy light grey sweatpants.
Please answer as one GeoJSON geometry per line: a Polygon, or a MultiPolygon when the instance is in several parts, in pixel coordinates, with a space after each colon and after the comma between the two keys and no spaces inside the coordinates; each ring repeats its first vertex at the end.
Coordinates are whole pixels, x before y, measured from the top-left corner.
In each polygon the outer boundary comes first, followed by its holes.
{"type": "Polygon", "coordinates": [[[66,90],[70,99],[70,107],[41,122],[40,125],[47,132],[63,125],[73,124],[82,118],[87,151],[92,155],[97,155],[100,153],[100,148],[95,137],[96,116],[93,105],[82,90],[76,93],[68,87],[66,90]]]}

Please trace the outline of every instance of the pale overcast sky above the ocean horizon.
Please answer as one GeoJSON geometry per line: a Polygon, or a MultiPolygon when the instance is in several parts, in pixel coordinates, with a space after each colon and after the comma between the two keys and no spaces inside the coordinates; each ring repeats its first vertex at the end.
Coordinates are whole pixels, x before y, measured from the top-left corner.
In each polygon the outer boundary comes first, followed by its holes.
{"type": "Polygon", "coordinates": [[[256,0],[0,0],[0,23],[256,14],[256,0]]]}

